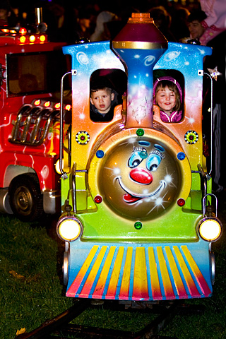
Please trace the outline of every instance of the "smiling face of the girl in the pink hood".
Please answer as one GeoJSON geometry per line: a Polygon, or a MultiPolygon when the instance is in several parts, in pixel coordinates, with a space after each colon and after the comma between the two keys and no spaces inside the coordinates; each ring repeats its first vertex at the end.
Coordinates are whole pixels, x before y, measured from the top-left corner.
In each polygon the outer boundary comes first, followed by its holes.
{"type": "Polygon", "coordinates": [[[155,95],[157,105],[167,114],[172,112],[176,105],[176,96],[173,90],[169,90],[167,86],[160,88],[155,95]]]}

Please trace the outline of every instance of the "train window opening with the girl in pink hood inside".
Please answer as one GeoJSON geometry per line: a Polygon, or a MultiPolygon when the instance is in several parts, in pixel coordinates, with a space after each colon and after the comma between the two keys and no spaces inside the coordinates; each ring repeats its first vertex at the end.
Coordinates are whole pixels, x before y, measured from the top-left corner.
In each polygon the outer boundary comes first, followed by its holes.
{"type": "Polygon", "coordinates": [[[160,107],[160,119],[179,122],[183,117],[184,76],[179,71],[158,69],[153,72],[153,104],[160,107]]]}

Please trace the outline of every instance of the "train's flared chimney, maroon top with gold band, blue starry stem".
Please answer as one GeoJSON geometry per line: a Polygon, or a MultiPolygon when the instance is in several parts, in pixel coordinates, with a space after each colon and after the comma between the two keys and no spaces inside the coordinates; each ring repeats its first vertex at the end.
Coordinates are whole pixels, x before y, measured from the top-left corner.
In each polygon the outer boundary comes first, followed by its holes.
{"type": "Polygon", "coordinates": [[[112,42],[128,69],[126,127],[153,126],[153,67],[168,43],[150,13],[132,13],[112,42]]]}

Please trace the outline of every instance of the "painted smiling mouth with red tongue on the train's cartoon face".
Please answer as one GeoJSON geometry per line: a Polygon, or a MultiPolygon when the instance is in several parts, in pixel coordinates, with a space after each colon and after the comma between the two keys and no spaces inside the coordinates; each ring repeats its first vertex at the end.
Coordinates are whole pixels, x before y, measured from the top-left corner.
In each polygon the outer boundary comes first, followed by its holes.
{"type": "Polygon", "coordinates": [[[136,203],[136,201],[139,201],[143,198],[150,198],[151,196],[156,196],[156,194],[160,194],[160,192],[165,189],[165,186],[167,185],[165,180],[160,181],[160,185],[155,189],[155,191],[150,192],[148,194],[135,194],[134,192],[130,191],[129,189],[124,186],[124,184],[121,181],[121,177],[116,177],[114,180],[119,180],[119,185],[121,188],[126,192],[124,194],[123,199],[126,203],[136,203]]]}

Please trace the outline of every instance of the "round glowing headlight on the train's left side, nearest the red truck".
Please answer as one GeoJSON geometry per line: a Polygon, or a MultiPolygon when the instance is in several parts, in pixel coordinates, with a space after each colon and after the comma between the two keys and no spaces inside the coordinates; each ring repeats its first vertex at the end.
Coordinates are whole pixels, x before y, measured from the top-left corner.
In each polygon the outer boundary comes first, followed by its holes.
{"type": "Polygon", "coordinates": [[[57,234],[64,242],[73,242],[83,232],[83,225],[75,217],[66,217],[57,223],[57,234]]]}

